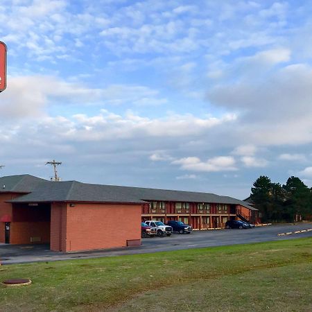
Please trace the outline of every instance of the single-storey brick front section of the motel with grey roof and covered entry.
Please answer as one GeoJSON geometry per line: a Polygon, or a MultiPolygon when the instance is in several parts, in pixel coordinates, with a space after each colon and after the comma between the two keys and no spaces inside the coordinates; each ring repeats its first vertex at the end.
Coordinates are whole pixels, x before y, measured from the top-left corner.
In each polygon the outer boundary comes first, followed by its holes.
{"type": "Polygon", "coordinates": [[[62,252],[140,245],[141,205],[102,185],[0,177],[0,242],[62,252]]]}

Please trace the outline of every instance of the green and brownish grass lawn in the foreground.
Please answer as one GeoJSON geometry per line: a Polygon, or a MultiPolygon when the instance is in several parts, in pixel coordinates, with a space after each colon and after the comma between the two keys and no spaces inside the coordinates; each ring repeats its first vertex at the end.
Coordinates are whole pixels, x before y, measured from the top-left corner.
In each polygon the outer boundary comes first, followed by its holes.
{"type": "Polygon", "coordinates": [[[312,311],[312,239],[0,266],[0,311],[312,311]]]}

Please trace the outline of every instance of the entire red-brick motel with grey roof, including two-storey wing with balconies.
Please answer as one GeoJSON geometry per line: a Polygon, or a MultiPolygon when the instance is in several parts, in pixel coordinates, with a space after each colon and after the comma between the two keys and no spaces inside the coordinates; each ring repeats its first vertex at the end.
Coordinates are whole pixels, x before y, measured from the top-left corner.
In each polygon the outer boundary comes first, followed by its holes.
{"type": "Polygon", "coordinates": [[[193,229],[227,220],[258,223],[246,202],[212,193],[0,177],[0,243],[76,252],[141,245],[141,220],[182,220],[193,229]]]}

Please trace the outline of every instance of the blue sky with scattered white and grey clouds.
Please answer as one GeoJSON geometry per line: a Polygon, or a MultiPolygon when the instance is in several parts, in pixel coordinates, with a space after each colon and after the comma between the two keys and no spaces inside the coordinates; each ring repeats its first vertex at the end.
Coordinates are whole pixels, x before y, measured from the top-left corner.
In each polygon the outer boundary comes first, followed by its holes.
{"type": "Polygon", "coordinates": [[[311,1],[1,0],[0,175],[244,199],[312,187],[311,1]]]}

